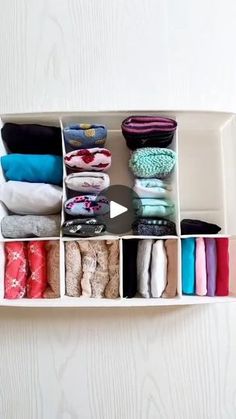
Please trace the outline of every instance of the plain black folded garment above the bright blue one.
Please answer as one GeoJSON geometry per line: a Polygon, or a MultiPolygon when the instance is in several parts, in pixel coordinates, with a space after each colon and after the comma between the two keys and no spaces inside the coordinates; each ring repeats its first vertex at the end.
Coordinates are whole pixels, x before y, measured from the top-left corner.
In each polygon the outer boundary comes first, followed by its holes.
{"type": "Polygon", "coordinates": [[[7,122],[1,133],[10,153],[62,155],[61,129],[58,127],[7,122]]]}

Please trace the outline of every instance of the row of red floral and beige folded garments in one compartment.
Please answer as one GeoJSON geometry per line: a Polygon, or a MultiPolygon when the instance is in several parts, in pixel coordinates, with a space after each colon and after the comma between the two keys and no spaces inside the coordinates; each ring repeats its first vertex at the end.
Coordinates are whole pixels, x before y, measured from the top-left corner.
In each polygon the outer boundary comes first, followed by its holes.
{"type": "Polygon", "coordinates": [[[5,298],[60,297],[58,241],[13,241],[4,248],[5,298]]]}

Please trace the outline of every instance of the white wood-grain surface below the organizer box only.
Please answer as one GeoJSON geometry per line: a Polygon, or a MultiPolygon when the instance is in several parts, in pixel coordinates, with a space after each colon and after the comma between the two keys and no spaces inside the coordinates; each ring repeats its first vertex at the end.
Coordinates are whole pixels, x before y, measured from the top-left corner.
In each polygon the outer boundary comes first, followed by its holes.
{"type": "Polygon", "coordinates": [[[235,418],[235,305],[0,311],[1,418],[235,418]]]}

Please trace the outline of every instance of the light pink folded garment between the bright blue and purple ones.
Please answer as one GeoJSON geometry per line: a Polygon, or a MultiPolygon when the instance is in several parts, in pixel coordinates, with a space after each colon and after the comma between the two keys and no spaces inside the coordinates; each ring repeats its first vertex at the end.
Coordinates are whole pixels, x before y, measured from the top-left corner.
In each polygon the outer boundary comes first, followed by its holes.
{"type": "Polygon", "coordinates": [[[207,293],[207,272],[206,272],[206,253],[205,242],[202,237],[196,239],[196,294],[206,295],[207,293]]]}

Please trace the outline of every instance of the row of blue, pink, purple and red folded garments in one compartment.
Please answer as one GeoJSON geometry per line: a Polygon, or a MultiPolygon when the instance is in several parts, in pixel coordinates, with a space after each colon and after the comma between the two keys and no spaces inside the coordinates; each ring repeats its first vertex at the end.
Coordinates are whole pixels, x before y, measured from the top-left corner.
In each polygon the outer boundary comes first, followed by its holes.
{"type": "Polygon", "coordinates": [[[228,238],[182,239],[182,291],[188,295],[229,294],[228,238]]]}

